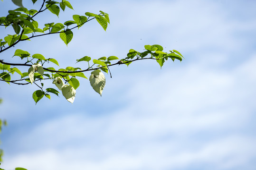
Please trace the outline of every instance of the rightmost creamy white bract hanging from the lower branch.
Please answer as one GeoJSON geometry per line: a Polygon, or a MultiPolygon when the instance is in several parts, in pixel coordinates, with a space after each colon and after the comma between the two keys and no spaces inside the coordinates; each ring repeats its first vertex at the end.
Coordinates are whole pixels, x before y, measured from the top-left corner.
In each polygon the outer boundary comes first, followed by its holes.
{"type": "Polygon", "coordinates": [[[91,72],[91,76],[89,78],[90,84],[95,90],[95,92],[99,93],[101,95],[104,86],[106,84],[105,76],[104,74],[99,70],[95,70],[91,72]]]}

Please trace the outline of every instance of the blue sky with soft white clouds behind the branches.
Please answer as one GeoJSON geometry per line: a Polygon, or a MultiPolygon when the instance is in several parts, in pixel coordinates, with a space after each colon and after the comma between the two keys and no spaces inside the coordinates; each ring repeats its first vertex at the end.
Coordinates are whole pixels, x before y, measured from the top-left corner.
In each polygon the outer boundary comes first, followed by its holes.
{"type": "MultiPolygon", "coordinates": [[[[124,58],[146,44],[178,50],[185,59],[114,66],[102,97],[79,79],[73,104],[63,96],[37,105],[35,85],[0,83],[1,168],[12,170],[254,170],[256,167],[256,1],[70,0],[75,10],[46,13],[42,23],[103,10],[97,22],[74,31],[68,47],[58,35],[23,42],[16,49],[55,58],[63,68],[85,55],[124,58]]],[[[0,2],[5,16],[16,8],[0,2]]],[[[37,2],[39,3],[39,2],[37,2]]],[[[30,8],[31,3],[23,4],[30,8]]],[[[40,4],[33,8],[38,8],[40,4]]],[[[43,26],[43,25],[42,25],[43,26]]],[[[1,38],[12,30],[0,32],[1,38]]],[[[86,66],[85,66],[86,67],[86,66]]],[[[28,68],[22,68],[26,71],[28,68]]],[[[90,73],[85,74],[89,77],[90,73]]],[[[45,86],[54,87],[51,81],[45,86]]]]}

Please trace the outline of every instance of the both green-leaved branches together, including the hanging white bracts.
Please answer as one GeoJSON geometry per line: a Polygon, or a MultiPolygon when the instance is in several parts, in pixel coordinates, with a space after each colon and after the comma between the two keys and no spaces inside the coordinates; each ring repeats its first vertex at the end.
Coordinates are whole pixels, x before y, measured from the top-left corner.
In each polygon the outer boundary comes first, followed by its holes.
{"type": "MultiPolygon", "coordinates": [[[[36,1],[37,0],[32,0],[33,3],[36,1]]],[[[72,30],[74,28],[79,29],[86,22],[96,19],[100,26],[106,30],[108,24],[110,23],[108,14],[103,11],[100,11],[98,15],[85,12],[85,16],[73,15],[73,20],[67,20],[64,23],[56,24],[47,23],[44,24],[45,27],[38,28],[38,22],[34,18],[36,15],[48,9],[51,13],[58,17],[60,8],[63,11],[66,7],[73,9],[72,5],[66,0],[62,0],[61,2],[54,0],[43,0],[42,8],[39,10],[28,10],[22,6],[22,0],[16,0],[16,4],[20,7],[14,10],[9,10],[9,14],[6,17],[0,17],[0,26],[12,26],[16,33],[14,35],[8,34],[8,36],[4,37],[5,41],[0,39],[0,53],[7,50],[9,47],[14,46],[20,41],[30,40],[34,37],[47,34],[59,34],[61,40],[67,45],[73,38],[72,30]],[[5,47],[6,44],[8,44],[7,47],[5,47]]],[[[50,99],[50,94],[55,94],[58,96],[60,93],[59,91],[61,91],[68,102],[73,103],[75,100],[76,89],[80,85],[78,77],[88,79],[84,74],[86,71],[91,71],[91,75],[89,77],[90,84],[95,92],[101,95],[105,86],[105,76],[103,72],[107,74],[110,73],[110,66],[120,64],[129,66],[133,61],[136,60],[155,59],[162,67],[163,63],[168,58],[171,58],[173,61],[175,59],[181,61],[183,58],[180,52],[176,50],[164,52],[161,45],[145,45],[144,47],[145,50],[142,52],[131,49],[128,52],[127,57],[124,59],[119,59],[116,56],[101,57],[99,59],[91,59],[91,57],[85,56],[77,59],[76,62],[85,61],[88,63],[88,67],[83,69],[74,68],[71,66],[59,69],[45,67],[49,62],[52,62],[57,66],[59,66],[59,64],[56,59],[46,59],[42,54],[30,55],[28,51],[17,49],[13,57],[18,56],[23,62],[21,61],[18,64],[14,64],[4,62],[0,59],[0,80],[5,81],[8,84],[37,85],[39,90],[32,94],[32,97],[36,103],[44,96],[50,99]],[[114,63],[111,63],[113,60],[115,60],[114,63]],[[18,69],[18,66],[28,67],[28,71],[22,73],[18,69]],[[18,74],[20,79],[12,80],[11,77],[14,73],[18,74]],[[45,88],[44,83],[41,82],[47,79],[51,79],[59,91],[52,87],[45,88]],[[40,81],[40,84],[38,84],[38,81],[40,81]]]]}

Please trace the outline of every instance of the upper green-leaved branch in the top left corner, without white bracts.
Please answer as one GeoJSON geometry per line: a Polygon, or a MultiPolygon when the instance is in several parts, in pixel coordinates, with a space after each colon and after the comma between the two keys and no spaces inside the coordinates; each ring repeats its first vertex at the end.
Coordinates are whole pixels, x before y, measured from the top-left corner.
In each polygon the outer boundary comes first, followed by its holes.
{"type": "MultiPolygon", "coordinates": [[[[35,3],[37,0],[32,0],[35,3]]],[[[38,13],[43,12],[48,9],[55,15],[59,15],[60,8],[64,11],[66,7],[73,9],[72,5],[67,0],[62,0],[61,2],[48,0],[45,1],[45,9],[24,8],[20,3],[18,5],[22,6],[14,10],[9,10],[9,14],[6,17],[0,17],[0,26],[12,26],[16,34],[8,34],[3,40],[0,39],[0,50],[5,48],[5,44],[8,43],[9,46],[16,44],[19,41],[30,40],[30,38],[42,36],[45,34],[59,34],[61,40],[63,40],[66,45],[72,40],[74,28],[80,28],[86,22],[96,19],[98,23],[106,30],[109,21],[107,13],[100,11],[100,14],[96,15],[90,12],[85,12],[85,16],[73,15],[73,20],[68,20],[64,23],[47,23],[43,28],[38,28],[38,22],[34,19],[38,13]],[[86,17],[87,16],[87,17],[86,17]],[[90,18],[91,17],[91,18],[90,18]],[[90,19],[89,19],[90,18],[90,19]],[[76,25],[69,28],[71,25],[76,25]],[[37,35],[36,35],[37,33],[37,35]]]]}

